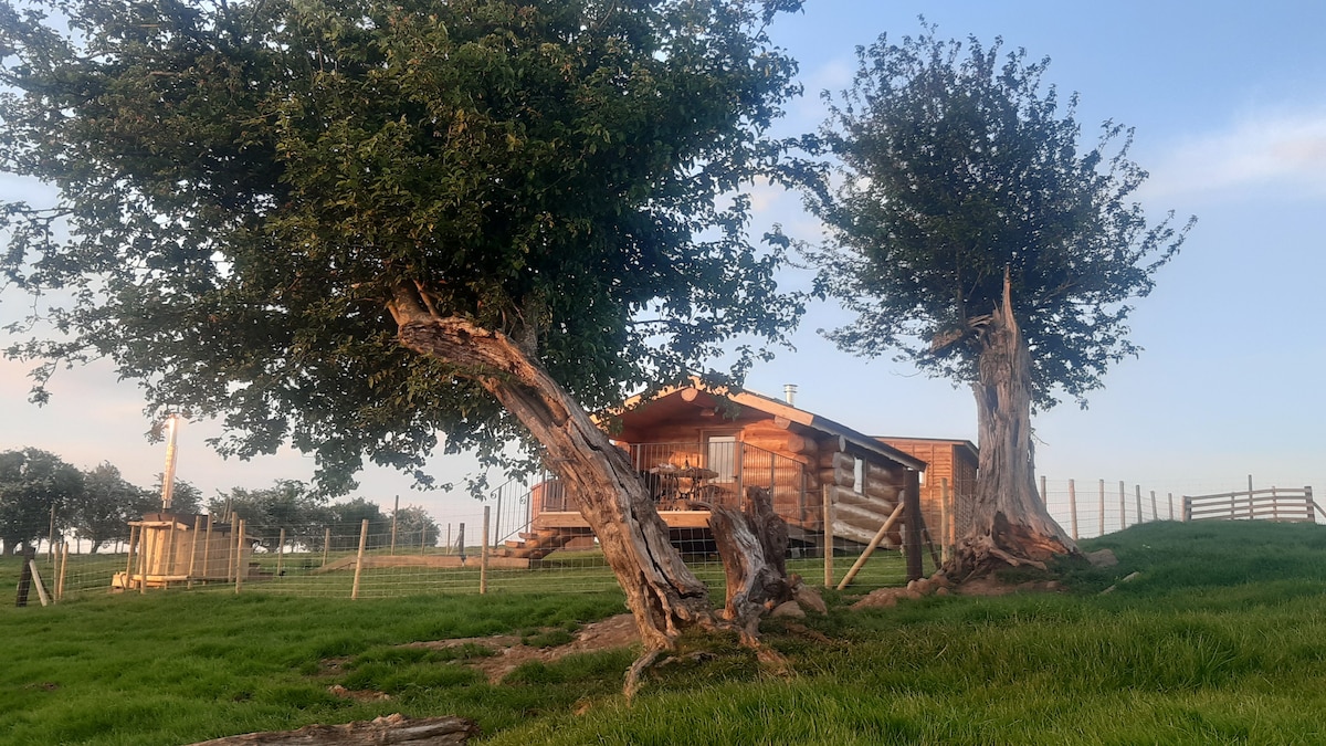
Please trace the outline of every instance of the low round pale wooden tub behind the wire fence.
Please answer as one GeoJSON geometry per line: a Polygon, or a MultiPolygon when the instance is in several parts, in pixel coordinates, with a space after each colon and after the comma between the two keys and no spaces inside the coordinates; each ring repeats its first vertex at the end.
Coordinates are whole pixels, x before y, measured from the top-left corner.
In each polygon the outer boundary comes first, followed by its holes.
{"type": "Polygon", "coordinates": [[[172,583],[227,583],[248,573],[252,542],[236,527],[207,515],[150,512],[129,522],[127,572],[117,572],[114,588],[164,588],[172,583]]]}

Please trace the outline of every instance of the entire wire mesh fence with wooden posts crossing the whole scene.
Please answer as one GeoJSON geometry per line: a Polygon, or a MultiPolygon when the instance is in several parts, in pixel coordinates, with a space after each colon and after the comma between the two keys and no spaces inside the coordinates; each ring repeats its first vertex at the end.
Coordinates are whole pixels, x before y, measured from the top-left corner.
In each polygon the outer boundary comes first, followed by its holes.
{"type": "MultiPolygon", "coordinates": [[[[1258,516],[1306,520],[1315,508],[1311,490],[1256,487],[1211,492],[1217,485],[1201,485],[1208,495],[1228,500],[1231,518],[1258,516]],[[1306,503],[1303,502],[1306,494],[1306,503]],[[1249,500],[1285,500],[1284,507],[1253,510],[1249,500]],[[1240,502],[1241,500],[1241,502],[1240,502]]],[[[953,524],[969,512],[964,491],[947,488],[939,504],[923,508],[926,528],[923,575],[934,573],[948,558],[953,524]]],[[[1183,520],[1184,499],[1195,490],[1152,488],[1147,485],[1106,479],[1042,479],[1041,495],[1052,516],[1075,539],[1111,534],[1138,523],[1183,520]]],[[[33,561],[36,579],[53,600],[80,593],[170,589],[224,589],[229,592],[289,593],[373,599],[428,593],[593,592],[618,587],[602,548],[593,534],[578,532],[546,552],[520,556],[529,534],[532,495],[528,485],[504,486],[473,511],[435,516],[436,523],[414,530],[367,530],[366,523],[334,526],[247,526],[211,543],[202,540],[203,522],[142,522],[141,532],[111,551],[80,554],[69,544],[40,547],[33,561]],[[499,508],[500,506],[500,508],[499,508]]],[[[553,496],[556,499],[556,495],[553,496]]],[[[1205,504],[1205,503],[1203,503],[1205,504]]],[[[1315,508],[1314,519],[1321,519],[1315,508]]],[[[220,526],[220,524],[217,524],[220,526]]],[[[379,526],[381,528],[381,526],[379,526]]],[[[220,536],[221,530],[216,528],[220,536]]],[[[907,583],[907,532],[892,531],[866,559],[850,584],[850,592],[907,583]]],[[[709,588],[724,596],[721,558],[707,528],[672,528],[670,532],[687,567],[709,588]]],[[[865,544],[833,539],[826,552],[823,535],[796,534],[789,542],[788,571],[815,585],[834,587],[862,556],[865,544]]],[[[0,573],[17,576],[19,558],[5,561],[0,573]]]]}

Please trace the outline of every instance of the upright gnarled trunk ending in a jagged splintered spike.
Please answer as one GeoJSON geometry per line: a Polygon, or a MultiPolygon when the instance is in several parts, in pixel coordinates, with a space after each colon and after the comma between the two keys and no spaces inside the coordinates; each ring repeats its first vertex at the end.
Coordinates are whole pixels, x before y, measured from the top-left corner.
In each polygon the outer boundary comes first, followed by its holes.
{"type": "Polygon", "coordinates": [[[1077,550],[1036,490],[1032,445],[1032,360],[1013,317],[1009,279],[1004,299],[980,331],[976,394],[980,461],[971,504],[957,510],[957,547],[945,568],[955,579],[1001,567],[1045,568],[1077,550]]]}

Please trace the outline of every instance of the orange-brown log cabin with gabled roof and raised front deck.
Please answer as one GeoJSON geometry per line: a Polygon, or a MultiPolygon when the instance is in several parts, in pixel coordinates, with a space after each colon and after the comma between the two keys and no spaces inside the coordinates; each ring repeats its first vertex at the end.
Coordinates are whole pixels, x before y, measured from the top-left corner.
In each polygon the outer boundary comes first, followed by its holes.
{"type": "MultiPolygon", "coordinates": [[[[826,499],[834,538],[865,544],[898,506],[906,473],[926,469],[920,458],[785,401],[697,381],[627,401],[613,426],[674,538],[707,531],[708,511],[696,503],[739,506],[748,487],[765,487],[793,547],[822,551],[826,499]]],[[[512,556],[538,559],[589,531],[575,495],[558,482],[534,491],[530,530],[508,544],[512,556]]],[[[900,542],[899,530],[886,539],[900,542]]]]}

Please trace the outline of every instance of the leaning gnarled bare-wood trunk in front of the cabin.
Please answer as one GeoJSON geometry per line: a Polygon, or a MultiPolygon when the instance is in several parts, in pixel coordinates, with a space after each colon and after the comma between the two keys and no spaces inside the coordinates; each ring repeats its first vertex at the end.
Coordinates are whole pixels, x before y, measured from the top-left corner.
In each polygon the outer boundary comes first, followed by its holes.
{"type": "Polygon", "coordinates": [[[434,316],[408,292],[391,311],[400,344],[460,366],[546,449],[549,469],[579,498],[646,648],[668,649],[683,629],[716,624],[708,588],[668,542],[630,459],[520,345],[464,319],[434,316]]]}

